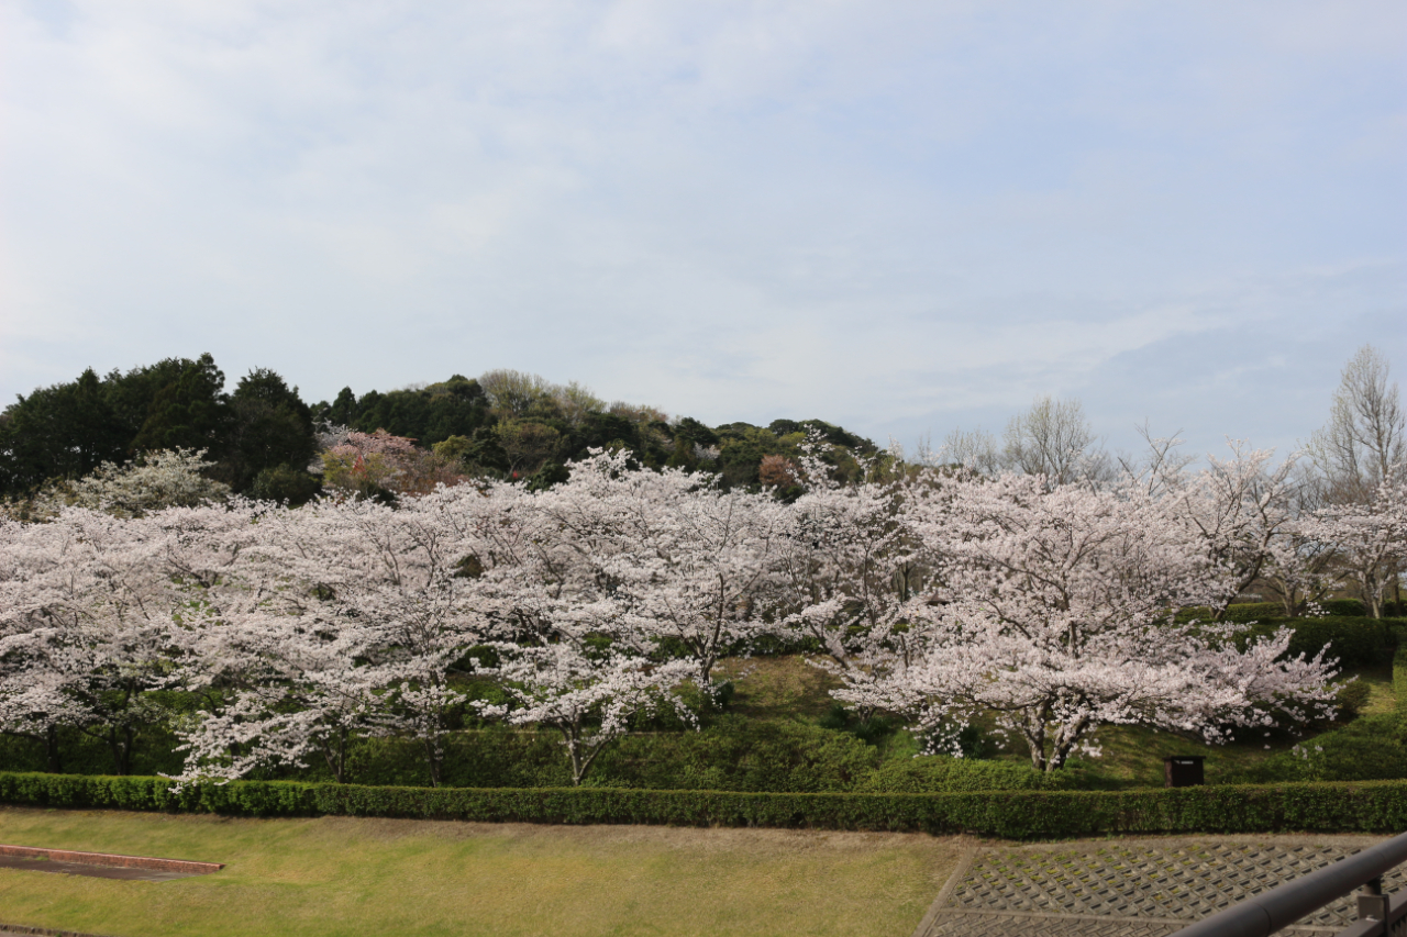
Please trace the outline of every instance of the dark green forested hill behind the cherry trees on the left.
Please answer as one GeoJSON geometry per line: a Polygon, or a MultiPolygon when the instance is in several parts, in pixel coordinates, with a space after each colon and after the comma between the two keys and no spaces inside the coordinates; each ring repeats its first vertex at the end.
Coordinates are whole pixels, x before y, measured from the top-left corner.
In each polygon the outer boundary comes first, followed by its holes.
{"type": "Polygon", "coordinates": [[[211,474],[235,491],[297,495],[315,490],[307,467],[336,426],[409,438],[466,474],[540,484],[566,477],[563,466],[597,446],[630,449],[650,467],[716,471],[729,485],[784,487],[787,459],[809,429],[843,450],[875,452],[871,440],[819,419],[708,426],[509,370],[360,397],[343,388],[332,402],[310,404],[267,369],[227,390],[207,353],[104,377],[89,369],[20,397],[0,414],[0,497],[177,447],[205,450],[215,463],[211,474]]]}

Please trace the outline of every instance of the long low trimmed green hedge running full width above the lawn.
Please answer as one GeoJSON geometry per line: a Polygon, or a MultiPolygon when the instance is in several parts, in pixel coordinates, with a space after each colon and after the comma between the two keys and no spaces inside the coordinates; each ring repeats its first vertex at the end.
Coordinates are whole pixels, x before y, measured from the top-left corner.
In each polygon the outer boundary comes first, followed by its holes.
{"type": "Polygon", "coordinates": [[[0,802],[234,816],[378,816],[975,833],[1013,840],[1130,833],[1386,833],[1407,829],[1407,782],[1142,791],[761,793],[620,788],[364,788],[0,772],[0,802]]]}

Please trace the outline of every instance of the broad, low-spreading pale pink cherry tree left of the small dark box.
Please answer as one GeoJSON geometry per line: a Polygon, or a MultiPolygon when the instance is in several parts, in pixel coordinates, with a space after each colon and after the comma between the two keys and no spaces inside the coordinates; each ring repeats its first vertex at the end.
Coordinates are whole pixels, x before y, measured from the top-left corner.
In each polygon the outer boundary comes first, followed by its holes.
{"type": "Polygon", "coordinates": [[[938,585],[909,604],[922,653],[879,689],[920,732],[989,712],[1054,771],[1097,751],[1102,725],[1220,741],[1330,706],[1328,663],[1278,660],[1287,630],[1240,651],[1230,626],[1171,620],[1220,595],[1224,575],[1204,539],[1140,488],[948,478],[908,509],[938,585]]]}

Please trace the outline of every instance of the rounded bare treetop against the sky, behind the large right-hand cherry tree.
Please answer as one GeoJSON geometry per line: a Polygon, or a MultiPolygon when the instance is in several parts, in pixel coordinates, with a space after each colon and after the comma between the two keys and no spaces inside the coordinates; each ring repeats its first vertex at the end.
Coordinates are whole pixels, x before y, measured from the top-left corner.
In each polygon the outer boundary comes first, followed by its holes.
{"type": "Polygon", "coordinates": [[[1099,447],[1085,408],[1075,398],[1037,398],[1029,411],[1012,416],[1003,442],[1005,467],[1044,476],[1052,487],[1100,481],[1112,474],[1109,454],[1099,447]]]}

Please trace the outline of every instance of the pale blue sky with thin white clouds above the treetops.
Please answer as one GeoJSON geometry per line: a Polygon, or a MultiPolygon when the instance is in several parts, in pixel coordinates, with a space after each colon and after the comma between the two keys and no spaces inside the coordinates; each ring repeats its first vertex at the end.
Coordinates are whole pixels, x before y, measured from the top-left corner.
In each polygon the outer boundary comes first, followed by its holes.
{"type": "Polygon", "coordinates": [[[0,400],[575,380],[1289,452],[1407,374],[1407,4],[0,0],[0,400]]]}

